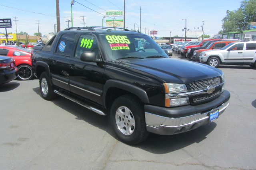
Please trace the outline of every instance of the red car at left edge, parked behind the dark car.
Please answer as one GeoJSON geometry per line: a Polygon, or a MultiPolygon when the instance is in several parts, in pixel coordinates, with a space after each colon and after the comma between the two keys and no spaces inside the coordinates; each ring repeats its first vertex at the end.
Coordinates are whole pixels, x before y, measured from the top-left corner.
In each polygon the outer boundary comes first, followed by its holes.
{"type": "Polygon", "coordinates": [[[0,55],[13,57],[18,67],[18,79],[30,80],[33,77],[31,51],[14,46],[0,46],[0,55]]]}

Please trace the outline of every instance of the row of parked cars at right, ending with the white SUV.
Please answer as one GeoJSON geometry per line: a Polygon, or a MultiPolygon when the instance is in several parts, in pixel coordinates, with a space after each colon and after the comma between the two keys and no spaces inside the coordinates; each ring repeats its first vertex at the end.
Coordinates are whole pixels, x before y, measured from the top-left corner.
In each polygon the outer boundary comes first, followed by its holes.
{"type": "Polygon", "coordinates": [[[250,65],[256,68],[256,41],[209,39],[194,45],[191,42],[179,42],[173,45],[172,50],[215,68],[220,64],[250,65]]]}

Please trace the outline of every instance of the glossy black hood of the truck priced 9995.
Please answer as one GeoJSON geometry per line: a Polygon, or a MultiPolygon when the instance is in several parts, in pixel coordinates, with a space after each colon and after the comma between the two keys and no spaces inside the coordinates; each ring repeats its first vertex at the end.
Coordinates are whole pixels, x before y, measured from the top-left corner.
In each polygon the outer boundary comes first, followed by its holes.
{"type": "Polygon", "coordinates": [[[222,71],[211,66],[174,58],[123,60],[114,66],[124,66],[123,69],[150,76],[161,83],[189,84],[222,75],[222,71]]]}

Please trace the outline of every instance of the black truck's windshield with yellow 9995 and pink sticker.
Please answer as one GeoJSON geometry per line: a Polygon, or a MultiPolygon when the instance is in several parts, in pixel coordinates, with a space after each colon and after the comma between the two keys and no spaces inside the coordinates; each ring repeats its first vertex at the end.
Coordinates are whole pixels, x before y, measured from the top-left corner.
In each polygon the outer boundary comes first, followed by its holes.
{"type": "Polygon", "coordinates": [[[101,35],[101,40],[108,61],[168,57],[160,46],[146,35],[105,34],[101,35]]]}

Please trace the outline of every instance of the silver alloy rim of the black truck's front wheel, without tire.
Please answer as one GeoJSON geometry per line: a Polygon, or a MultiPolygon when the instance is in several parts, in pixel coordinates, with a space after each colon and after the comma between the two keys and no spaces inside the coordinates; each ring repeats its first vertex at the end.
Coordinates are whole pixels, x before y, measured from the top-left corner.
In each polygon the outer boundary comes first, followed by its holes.
{"type": "Polygon", "coordinates": [[[116,125],[122,134],[131,135],[134,132],[135,119],[126,106],[121,106],[116,110],[116,125]]]}

